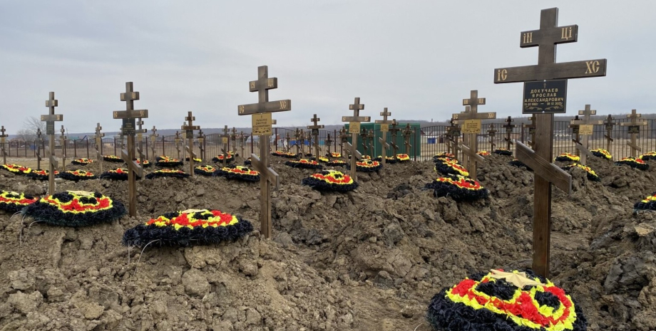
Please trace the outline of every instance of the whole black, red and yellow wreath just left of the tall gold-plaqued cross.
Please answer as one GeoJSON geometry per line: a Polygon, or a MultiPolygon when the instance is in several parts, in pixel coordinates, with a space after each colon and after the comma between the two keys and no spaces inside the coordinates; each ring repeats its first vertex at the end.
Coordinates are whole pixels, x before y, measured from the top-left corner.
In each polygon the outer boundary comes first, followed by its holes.
{"type": "Polygon", "coordinates": [[[212,245],[235,241],[253,231],[250,221],[215,209],[163,214],[123,233],[123,245],[143,247],[212,245]]]}

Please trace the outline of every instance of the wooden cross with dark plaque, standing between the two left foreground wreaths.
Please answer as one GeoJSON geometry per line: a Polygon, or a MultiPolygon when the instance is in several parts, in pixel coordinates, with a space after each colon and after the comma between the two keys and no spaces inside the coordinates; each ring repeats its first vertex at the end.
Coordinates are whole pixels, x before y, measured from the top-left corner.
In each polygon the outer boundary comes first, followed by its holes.
{"type": "Polygon", "coordinates": [[[130,216],[137,215],[137,176],[143,178],[143,167],[135,162],[135,119],[148,118],[148,110],[134,109],[135,100],[139,100],[139,93],[133,90],[132,82],[125,83],[125,93],[121,93],[121,101],[125,101],[125,110],[114,110],[113,112],[114,120],[123,120],[121,133],[128,136],[128,148],[121,149],[121,158],[128,164],[128,213],[130,216]]]}

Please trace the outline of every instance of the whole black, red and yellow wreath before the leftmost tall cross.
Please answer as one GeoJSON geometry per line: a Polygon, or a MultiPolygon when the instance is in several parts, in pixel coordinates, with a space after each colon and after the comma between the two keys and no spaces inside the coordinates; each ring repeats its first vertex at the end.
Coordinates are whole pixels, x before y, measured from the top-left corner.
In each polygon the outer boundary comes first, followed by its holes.
{"type": "Polygon", "coordinates": [[[42,197],[23,213],[51,225],[89,226],[120,219],[126,210],[120,201],[98,192],[63,191],[42,197]]]}

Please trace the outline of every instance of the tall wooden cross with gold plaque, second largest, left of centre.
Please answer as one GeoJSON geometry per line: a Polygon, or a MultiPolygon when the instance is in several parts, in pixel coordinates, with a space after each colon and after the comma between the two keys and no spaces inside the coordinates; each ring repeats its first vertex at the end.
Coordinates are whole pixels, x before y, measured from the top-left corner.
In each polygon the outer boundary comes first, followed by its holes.
{"type": "MultiPolygon", "coordinates": [[[[267,167],[269,158],[269,140],[271,136],[271,113],[292,110],[292,100],[269,101],[269,90],[278,88],[278,78],[269,78],[269,70],[266,65],[257,68],[257,80],[249,83],[250,92],[257,92],[258,103],[240,105],[237,107],[239,115],[253,115],[253,118],[264,119],[269,125],[264,125],[264,130],[258,130],[260,135],[260,157],[251,154],[251,163],[255,170],[260,172],[260,232],[265,238],[271,237],[271,191],[269,183],[277,189],[280,185],[278,174],[267,167]],[[268,130],[267,130],[268,129],[268,130]]],[[[262,127],[258,127],[259,129],[262,127]]]]}

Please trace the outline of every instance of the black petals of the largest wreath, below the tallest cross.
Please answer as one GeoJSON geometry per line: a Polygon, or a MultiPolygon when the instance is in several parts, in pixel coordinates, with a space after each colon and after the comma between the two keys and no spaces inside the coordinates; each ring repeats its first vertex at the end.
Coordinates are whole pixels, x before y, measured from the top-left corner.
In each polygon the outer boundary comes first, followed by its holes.
{"type": "MultiPolygon", "coordinates": [[[[486,273],[477,273],[469,277],[472,280],[480,282],[486,273]]],[[[546,283],[546,279],[542,276],[535,275],[533,271],[526,270],[528,278],[538,278],[540,283],[546,283]]],[[[491,297],[501,298],[502,300],[510,300],[517,287],[505,280],[496,280],[495,282],[481,283],[477,286],[477,290],[490,295],[491,297]]],[[[426,311],[426,320],[428,320],[433,330],[490,330],[490,331],[533,331],[529,327],[517,325],[513,320],[504,315],[497,315],[487,309],[473,309],[463,303],[454,303],[446,297],[446,291],[450,288],[444,288],[437,293],[429,304],[426,311]]],[[[538,300],[540,305],[547,305],[549,307],[558,307],[560,300],[551,293],[536,294],[535,299],[538,300]]],[[[588,330],[588,319],[583,315],[580,305],[573,299],[574,312],[576,313],[576,320],[573,323],[573,331],[588,330]]],[[[544,329],[541,329],[544,330],[544,329]]]]}

